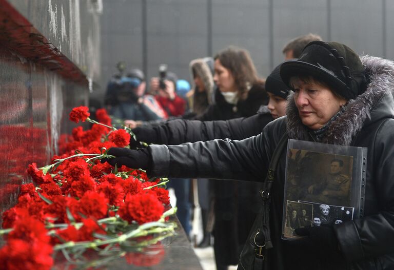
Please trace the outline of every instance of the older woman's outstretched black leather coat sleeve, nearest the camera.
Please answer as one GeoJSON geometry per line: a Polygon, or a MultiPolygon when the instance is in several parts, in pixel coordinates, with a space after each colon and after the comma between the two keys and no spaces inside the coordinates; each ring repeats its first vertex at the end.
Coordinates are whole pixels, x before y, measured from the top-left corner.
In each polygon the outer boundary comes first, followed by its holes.
{"type": "Polygon", "coordinates": [[[262,181],[269,163],[264,136],[149,146],[152,163],[148,175],[262,181]]]}

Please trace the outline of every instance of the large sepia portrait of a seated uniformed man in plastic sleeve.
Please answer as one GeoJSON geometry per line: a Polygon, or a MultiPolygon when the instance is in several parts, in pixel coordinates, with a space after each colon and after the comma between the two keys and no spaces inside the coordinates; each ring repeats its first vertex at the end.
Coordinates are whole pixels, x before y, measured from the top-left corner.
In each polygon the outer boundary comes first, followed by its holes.
{"type": "Polygon", "coordinates": [[[286,199],[350,206],[353,156],[289,149],[286,199]]]}

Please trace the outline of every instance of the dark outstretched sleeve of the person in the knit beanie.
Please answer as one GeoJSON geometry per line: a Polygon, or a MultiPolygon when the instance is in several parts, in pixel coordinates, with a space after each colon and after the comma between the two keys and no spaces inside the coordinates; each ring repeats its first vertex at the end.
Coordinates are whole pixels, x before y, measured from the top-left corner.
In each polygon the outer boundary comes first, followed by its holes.
{"type": "Polygon", "coordinates": [[[227,121],[177,119],[154,127],[154,129],[160,138],[160,144],[181,144],[226,138],[242,140],[260,134],[270,121],[272,121],[270,114],[256,114],[227,121]]]}

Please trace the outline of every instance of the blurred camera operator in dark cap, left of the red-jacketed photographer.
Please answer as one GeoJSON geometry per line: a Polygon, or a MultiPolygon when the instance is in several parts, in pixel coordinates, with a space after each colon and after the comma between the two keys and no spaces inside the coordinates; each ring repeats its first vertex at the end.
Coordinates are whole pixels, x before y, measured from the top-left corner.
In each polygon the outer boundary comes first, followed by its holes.
{"type": "Polygon", "coordinates": [[[108,96],[112,97],[110,115],[119,119],[140,121],[160,120],[166,118],[159,103],[151,95],[145,95],[145,76],[140,69],[131,69],[120,78],[120,87],[108,96]]]}

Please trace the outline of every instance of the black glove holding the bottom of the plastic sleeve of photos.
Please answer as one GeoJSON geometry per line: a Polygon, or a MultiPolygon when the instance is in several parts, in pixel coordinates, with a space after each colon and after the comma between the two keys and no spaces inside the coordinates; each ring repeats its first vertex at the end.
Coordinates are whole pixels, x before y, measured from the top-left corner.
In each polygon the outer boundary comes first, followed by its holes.
{"type": "Polygon", "coordinates": [[[322,269],[347,269],[346,260],[339,250],[337,235],[332,226],[306,226],[295,229],[299,236],[306,236],[304,243],[310,252],[316,254],[322,269]]]}

